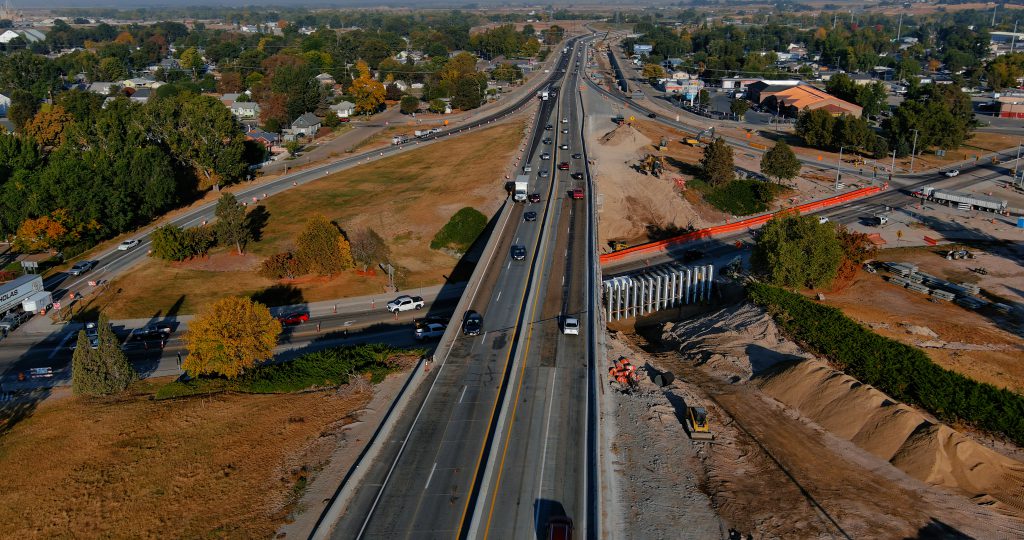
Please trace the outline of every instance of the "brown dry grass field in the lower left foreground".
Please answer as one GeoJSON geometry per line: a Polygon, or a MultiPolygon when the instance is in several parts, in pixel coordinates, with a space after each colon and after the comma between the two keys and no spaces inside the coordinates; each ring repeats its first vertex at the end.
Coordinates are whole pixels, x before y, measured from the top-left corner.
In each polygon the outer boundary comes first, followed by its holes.
{"type": "Polygon", "coordinates": [[[0,439],[6,538],[270,538],[371,393],[53,398],[0,439]],[[328,443],[328,444],[326,444],[328,443]]]}

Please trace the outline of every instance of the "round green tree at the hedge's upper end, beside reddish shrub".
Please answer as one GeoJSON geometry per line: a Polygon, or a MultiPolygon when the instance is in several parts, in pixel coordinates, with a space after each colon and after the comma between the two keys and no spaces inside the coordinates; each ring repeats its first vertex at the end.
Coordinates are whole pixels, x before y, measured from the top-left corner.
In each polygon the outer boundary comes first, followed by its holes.
{"type": "Polygon", "coordinates": [[[796,214],[778,215],[765,223],[751,259],[773,285],[809,288],[830,284],[842,261],[835,225],[796,214]]]}

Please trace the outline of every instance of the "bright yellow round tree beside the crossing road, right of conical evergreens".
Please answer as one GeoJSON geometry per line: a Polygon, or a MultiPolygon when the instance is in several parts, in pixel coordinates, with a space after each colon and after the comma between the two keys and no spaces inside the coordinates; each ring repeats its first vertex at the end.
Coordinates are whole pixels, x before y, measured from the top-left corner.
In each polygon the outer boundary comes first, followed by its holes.
{"type": "Polygon", "coordinates": [[[281,323],[265,305],[250,298],[222,298],[188,325],[182,338],[188,356],[181,367],[194,377],[238,377],[273,358],[279,334],[281,323]]]}

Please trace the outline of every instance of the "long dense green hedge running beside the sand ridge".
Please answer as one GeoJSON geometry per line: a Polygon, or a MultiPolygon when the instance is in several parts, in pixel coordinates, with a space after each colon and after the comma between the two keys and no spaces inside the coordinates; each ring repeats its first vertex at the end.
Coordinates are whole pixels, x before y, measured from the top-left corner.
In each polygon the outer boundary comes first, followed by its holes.
{"type": "Polygon", "coordinates": [[[796,339],[861,382],[945,422],[964,421],[1024,445],[1024,397],[938,366],[921,349],[799,294],[758,283],[748,294],[796,339]]]}

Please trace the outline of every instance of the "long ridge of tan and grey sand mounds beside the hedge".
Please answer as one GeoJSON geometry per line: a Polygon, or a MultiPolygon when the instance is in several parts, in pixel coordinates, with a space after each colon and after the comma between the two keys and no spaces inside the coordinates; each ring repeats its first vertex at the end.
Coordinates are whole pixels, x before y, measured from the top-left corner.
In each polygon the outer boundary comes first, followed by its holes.
{"type": "Polygon", "coordinates": [[[1024,515],[1024,463],[806,358],[754,305],[731,306],[674,325],[664,337],[716,373],[750,379],[765,393],[910,476],[1024,515]]]}

